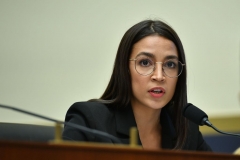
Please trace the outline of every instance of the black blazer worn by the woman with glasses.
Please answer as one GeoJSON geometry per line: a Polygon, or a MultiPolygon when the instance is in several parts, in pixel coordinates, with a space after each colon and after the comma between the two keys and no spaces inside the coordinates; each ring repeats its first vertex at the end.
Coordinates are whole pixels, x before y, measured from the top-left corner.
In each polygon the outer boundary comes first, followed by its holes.
{"type": "MultiPolygon", "coordinates": [[[[161,111],[162,148],[172,149],[176,143],[176,131],[172,120],[165,108],[161,111]]],[[[75,123],[109,133],[121,141],[129,144],[130,128],[136,126],[131,106],[125,108],[108,107],[97,102],[77,102],[67,111],[66,122],[75,123]]],[[[74,141],[113,143],[109,138],[102,138],[93,134],[84,133],[76,128],[64,126],[63,139],[74,141]]],[[[139,139],[139,144],[141,141],[139,139]]],[[[198,125],[190,122],[188,137],[184,150],[211,151],[199,132],[198,125]]]]}

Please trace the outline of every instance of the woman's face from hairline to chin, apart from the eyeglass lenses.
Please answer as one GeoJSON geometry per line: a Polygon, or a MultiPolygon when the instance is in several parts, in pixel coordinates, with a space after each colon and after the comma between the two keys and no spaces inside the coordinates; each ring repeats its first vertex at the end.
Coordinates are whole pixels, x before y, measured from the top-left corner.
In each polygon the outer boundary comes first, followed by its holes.
{"type": "MultiPolygon", "coordinates": [[[[168,59],[178,60],[178,52],[174,43],[159,35],[147,36],[133,45],[130,59],[145,59],[136,61],[137,65],[147,66],[149,61],[165,62],[168,59]]],[[[143,76],[135,69],[135,61],[129,61],[132,83],[133,107],[163,108],[173,97],[178,78],[166,76],[162,63],[155,63],[153,73],[143,76]]],[[[143,72],[146,72],[143,70],[143,72]]]]}

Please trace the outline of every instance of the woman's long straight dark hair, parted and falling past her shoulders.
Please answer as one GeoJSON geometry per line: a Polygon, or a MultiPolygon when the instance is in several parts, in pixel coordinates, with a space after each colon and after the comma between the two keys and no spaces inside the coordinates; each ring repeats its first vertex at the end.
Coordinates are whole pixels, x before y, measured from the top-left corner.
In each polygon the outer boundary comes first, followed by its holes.
{"type": "MultiPolygon", "coordinates": [[[[158,34],[171,40],[177,47],[179,61],[186,64],[182,42],[177,33],[166,23],[159,20],[145,20],[132,26],[123,36],[118,47],[113,72],[108,86],[98,100],[111,106],[123,107],[131,102],[132,85],[129,74],[129,58],[135,43],[146,36],[158,34]]],[[[174,149],[181,149],[187,136],[187,120],[182,116],[181,109],[187,103],[186,67],[178,77],[175,93],[171,100],[173,121],[178,134],[174,149]]],[[[167,106],[170,106],[169,104],[167,106]]]]}

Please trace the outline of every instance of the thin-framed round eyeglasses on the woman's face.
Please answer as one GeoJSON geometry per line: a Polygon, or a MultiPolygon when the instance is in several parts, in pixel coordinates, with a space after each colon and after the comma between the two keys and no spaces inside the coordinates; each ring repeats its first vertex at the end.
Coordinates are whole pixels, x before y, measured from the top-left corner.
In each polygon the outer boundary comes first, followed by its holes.
{"type": "Polygon", "coordinates": [[[177,59],[168,59],[164,62],[155,62],[153,59],[147,56],[129,59],[129,61],[135,61],[135,70],[143,76],[152,74],[156,68],[156,64],[162,64],[162,70],[164,74],[170,78],[178,77],[182,73],[183,66],[185,65],[177,59]]]}

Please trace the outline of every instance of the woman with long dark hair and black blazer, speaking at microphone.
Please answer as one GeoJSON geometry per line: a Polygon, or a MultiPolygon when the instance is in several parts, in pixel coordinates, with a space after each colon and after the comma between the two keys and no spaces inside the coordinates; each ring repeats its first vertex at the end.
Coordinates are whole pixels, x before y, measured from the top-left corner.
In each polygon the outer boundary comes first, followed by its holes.
{"type": "MultiPolygon", "coordinates": [[[[136,126],[144,149],[210,151],[198,126],[182,116],[186,103],[182,43],[164,22],[145,20],[123,36],[101,98],[73,104],[65,120],[109,133],[121,143],[129,142],[129,129],[136,126]]],[[[68,126],[63,138],[112,143],[68,126]]]]}

